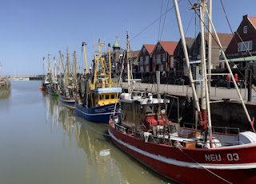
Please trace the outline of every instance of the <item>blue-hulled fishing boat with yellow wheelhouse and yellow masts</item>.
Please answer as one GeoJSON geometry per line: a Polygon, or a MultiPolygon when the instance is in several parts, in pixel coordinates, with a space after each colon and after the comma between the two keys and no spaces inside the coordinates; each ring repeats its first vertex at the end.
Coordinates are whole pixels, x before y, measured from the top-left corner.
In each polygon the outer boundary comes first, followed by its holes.
{"type": "MultiPolygon", "coordinates": [[[[93,69],[88,72],[86,68],[85,92],[82,100],[76,100],[75,112],[83,118],[98,122],[108,123],[113,114],[120,115],[119,96],[122,88],[114,84],[111,78],[111,67],[106,69],[105,58],[102,57],[101,46],[105,43],[98,40],[98,55],[94,53],[93,69]]],[[[83,44],[85,48],[85,45],[83,44]]],[[[110,47],[109,47],[110,54],[110,47]]],[[[109,66],[111,61],[109,57],[109,66]]]]}

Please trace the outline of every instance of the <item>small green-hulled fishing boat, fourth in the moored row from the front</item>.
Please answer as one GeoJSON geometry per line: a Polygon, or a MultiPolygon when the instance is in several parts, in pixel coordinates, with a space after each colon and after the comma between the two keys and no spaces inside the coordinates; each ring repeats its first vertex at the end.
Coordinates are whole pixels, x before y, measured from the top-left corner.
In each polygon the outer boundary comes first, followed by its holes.
{"type": "Polygon", "coordinates": [[[47,77],[50,80],[50,84],[47,85],[47,92],[51,96],[58,96],[58,78],[57,78],[57,63],[56,58],[54,57],[54,66],[52,67],[50,63],[50,55],[48,55],[48,62],[49,62],[49,73],[47,77]]]}

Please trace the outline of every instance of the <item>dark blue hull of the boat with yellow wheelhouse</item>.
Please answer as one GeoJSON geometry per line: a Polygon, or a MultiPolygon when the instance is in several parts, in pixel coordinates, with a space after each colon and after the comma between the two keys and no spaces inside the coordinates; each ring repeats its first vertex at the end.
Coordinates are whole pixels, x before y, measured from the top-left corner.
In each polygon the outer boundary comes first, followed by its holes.
{"type": "MultiPolygon", "coordinates": [[[[75,113],[82,116],[84,119],[98,123],[109,123],[110,115],[113,115],[115,104],[107,104],[97,108],[86,108],[82,104],[74,103],[75,113]]],[[[116,105],[116,113],[121,115],[119,103],[116,105]]]]}

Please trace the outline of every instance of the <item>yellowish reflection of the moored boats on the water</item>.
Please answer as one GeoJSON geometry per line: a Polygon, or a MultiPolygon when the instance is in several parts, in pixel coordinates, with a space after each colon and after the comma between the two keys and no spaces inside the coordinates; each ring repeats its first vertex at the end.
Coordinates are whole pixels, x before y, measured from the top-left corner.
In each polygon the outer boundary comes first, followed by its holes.
{"type": "Polygon", "coordinates": [[[71,144],[76,143],[77,151],[83,153],[83,183],[170,183],[116,147],[108,136],[108,124],[86,121],[75,115],[73,107],[59,102],[58,97],[42,95],[50,130],[62,127],[63,147],[71,149],[71,144]]]}

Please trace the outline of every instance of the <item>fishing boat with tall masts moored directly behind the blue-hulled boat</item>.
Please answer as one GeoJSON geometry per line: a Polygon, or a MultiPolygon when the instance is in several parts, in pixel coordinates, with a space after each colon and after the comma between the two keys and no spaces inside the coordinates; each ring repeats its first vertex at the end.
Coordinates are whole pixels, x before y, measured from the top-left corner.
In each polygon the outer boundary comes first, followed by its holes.
{"type": "MultiPolygon", "coordinates": [[[[77,75],[76,75],[76,53],[74,52],[74,73],[73,75],[70,75],[70,57],[69,53],[67,51],[67,57],[66,57],[66,69],[64,70],[64,76],[62,77],[62,88],[58,92],[59,99],[66,104],[74,104],[75,99],[77,96],[77,75]]],[[[60,52],[62,66],[63,60],[62,60],[62,53],[60,52]]]]}

